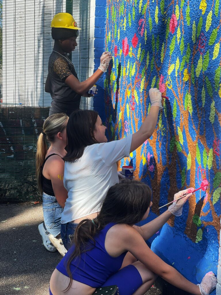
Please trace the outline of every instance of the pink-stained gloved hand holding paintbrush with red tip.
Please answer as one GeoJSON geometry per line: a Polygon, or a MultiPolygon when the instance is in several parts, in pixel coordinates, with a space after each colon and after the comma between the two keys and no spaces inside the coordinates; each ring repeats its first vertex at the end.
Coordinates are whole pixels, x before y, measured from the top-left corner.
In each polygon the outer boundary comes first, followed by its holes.
{"type": "Polygon", "coordinates": [[[184,189],[184,191],[179,191],[177,194],[174,195],[174,200],[179,199],[183,195],[187,194],[187,196],[183,197],[182,199],[178,200],[177,202],[173,202],[172,205],[168,207],[168,210],[174,214],[175,216],[182,215],[183,205],[186,203],[186,201],[189,199],[190,196],[192,196],[192,192],[194,191],[194,188],[191,187],[189,189],[184,189]]]}

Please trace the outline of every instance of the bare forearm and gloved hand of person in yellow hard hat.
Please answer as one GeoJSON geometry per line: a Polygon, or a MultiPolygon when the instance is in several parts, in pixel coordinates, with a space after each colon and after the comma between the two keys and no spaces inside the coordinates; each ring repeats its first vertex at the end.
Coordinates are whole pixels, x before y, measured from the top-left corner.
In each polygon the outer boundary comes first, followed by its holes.
{"type": "Polygon", "coordinates": [[[70,86],[78,94],[84,94],[87,92],[103,75],[104,72],[107,71],[110,60],[112,59],[112,55],[110,52],[104,52],[100,57],[100,66],[97,71],[93,73],[87,80],[80,82],[74,75],[69,75],[65,79],[65,83],[70,86]]]}

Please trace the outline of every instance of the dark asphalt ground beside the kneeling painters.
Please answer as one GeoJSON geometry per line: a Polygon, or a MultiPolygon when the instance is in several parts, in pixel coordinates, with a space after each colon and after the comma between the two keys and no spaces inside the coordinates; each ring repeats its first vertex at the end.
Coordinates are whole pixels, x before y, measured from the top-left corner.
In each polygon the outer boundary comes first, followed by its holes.
{"type": "MultiPolygon", "coordinates": [[[[38,232],[40,203],[0,205],[0,295],[49,295],[52,272],[61,260],[47,251],[38,232]]],[[[161,295],[152,287],[145,295],[161,295]]]]}

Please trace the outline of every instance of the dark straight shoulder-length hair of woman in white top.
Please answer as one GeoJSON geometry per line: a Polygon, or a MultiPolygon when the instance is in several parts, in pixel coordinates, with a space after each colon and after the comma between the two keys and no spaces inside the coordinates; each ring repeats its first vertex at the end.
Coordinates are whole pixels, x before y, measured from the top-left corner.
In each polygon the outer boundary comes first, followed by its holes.
{"type": "Polygon", "coordinates": [[[97,118],[98,112],[91,110],[77,110],[70,115],[67,123],[65,161],[71,162],[81,158],[86,146],[98,143],[94,137],[97,118]]]}

